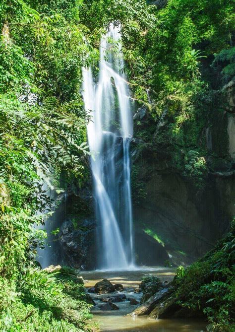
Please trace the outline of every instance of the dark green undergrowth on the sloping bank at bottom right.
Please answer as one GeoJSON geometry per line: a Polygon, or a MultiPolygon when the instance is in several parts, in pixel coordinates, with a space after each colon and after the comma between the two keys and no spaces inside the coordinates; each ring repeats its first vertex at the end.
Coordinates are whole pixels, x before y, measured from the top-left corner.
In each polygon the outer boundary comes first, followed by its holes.
{"type": "Polygon", "coordinates": [[[228,235],[174,279],[178,304],[203,312],[208,331],[235,331],[235,220],[228,235]]]}

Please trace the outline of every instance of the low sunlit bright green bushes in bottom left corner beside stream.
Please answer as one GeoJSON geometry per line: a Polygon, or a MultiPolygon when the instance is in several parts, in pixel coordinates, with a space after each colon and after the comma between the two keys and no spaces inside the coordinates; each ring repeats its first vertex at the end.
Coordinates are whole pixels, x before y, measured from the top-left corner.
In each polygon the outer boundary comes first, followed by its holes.
{"type": "Polygon", "coordinates": [[[27,269],[18,282],[0,277],[0,331],[90,331],[83,281],[71,268],[27,269]]]}

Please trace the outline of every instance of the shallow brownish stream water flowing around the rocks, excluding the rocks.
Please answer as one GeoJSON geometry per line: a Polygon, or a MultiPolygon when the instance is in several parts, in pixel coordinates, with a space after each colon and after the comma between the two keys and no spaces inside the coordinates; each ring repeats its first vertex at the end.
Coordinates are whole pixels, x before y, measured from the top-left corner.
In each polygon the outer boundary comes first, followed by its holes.
{"type": "Polygon", "coordinates": [[[126,314],[132,312],[138,305],[130,305],[131,298],[140,301],[142,294],[134,292],[139,286],[140,280],[146,275],[156,275],[162,281],[171,281],[175,275],[174,269],[166,268],[144,268],[134,271],[83,271],[81,275],[87,280],[87,288],[95,285],[102,279],[109,279],[112,283],[121,283],[127,300],[115,303],[119,310],[102,311],[100,307],[104,305],[100,299],[114,296],[114,294],[92,294],[91,297],[96,305],[92,308],[93,321],[98,323],[100,331],[106,332],[204,332],[206,323],[190,319],[159,319],[150,320],[145,316],[129,317],[126,314]]]}

